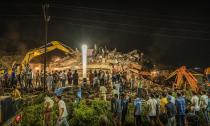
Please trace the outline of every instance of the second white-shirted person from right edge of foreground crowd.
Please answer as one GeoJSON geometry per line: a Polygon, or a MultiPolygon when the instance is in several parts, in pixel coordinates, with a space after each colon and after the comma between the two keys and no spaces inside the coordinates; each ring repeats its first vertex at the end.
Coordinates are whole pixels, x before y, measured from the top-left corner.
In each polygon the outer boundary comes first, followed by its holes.
{"type": "Polygon", "coordinates": [[[194,95],[191,98],[191,111],[194,112],[196,115],[198,114],[198,112],[200,111],[200,106],[199,106],[199,98],[197,96],[197,93],[194,92],[194,95]]]}

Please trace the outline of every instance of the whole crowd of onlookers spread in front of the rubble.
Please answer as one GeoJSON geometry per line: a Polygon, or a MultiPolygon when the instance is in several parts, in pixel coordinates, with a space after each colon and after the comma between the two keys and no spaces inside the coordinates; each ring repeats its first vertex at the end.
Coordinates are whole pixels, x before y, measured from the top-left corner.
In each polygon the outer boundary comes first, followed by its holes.
{"type": "MultiPolygon", "coordinates": [[[[189,95],[182,90],[150,89],[148,85],[151,81],[126,71],[90,70],[86,79],[81,81],[79,78],[77,70],[52,71],[47,73],[47,90],[54,92],[55,89],[68,85],[91,86],[95,92],[100,92],[102,100],[111,102],[113,118],[119,126],[125,124],[128,112],[131,111],[129,105],[134,108],[132,111],[136,126],[142,125],[143,117],[146,117],[151,126],[185,126],[190,123],[199,126],[201,116],[206,125],[210,123],[210,95],[206,91],[189,95]]],[[[44,73],[37,71],[33,75],[30,68],[22,74],[16,69],[11,75],[5,72],[1,76],[4,87],[19,85],[21,88],[38,88],[43,87],[43,81],[44,73]]],[[[62,117],[67,116],[66,113],[63,115],[65,103],[60,96],[56,96],[55,101],[61,106],[59,111],[62,111],[57,125],[68,125],[62,117]]]]}

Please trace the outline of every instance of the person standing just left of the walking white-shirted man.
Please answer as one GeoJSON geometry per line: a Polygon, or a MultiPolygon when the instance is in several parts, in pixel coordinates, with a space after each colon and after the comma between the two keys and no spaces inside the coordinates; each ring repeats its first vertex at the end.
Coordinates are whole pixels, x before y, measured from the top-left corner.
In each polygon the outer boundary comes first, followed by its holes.
{"type": "Polygon", "coordinates": [[[52,114],[52,108],[54,105],[54,101],[46,96],[44,101],[44,121],[46,126],[51,126],[51,114],[52,114]]]}

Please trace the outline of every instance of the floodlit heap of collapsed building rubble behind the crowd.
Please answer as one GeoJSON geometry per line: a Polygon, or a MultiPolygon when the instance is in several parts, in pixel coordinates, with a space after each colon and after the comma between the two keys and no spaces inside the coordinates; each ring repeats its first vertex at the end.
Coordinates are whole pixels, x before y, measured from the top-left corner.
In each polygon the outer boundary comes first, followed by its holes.
{"type": "MultiPolygon", "coordinates": [[[[55,42],[55,41],[54,41],[55,42]]],[[[50,50],[57,49],[57,45],[59,46],[59,50],[64,50],[64,52],[71,52],[72,55],[65,55],[65,57],[54,57],[51,61],[47,64],[47,71],[61,71],[61,70],[78,70],[79,74],[82,72],[82,56],[81,52],[76,49],[73,50],[70,47],[67,47],[66,45],[57,42],[53,45],[53,43],[50,45],[50,50]],[[51,46],[52,45],[52,46],[51,46]],[[64,46],[63,46],[64,45],[64,46]],[[68,49],[71,49],[68,51],[68,49]]],[[[39,52],[39,55],[43,54],[42,52],[43,46],[40,48],[36,48],[33,50],[30,50],[30,52],[39,52]],[[38,50],[37,50],[38,49],[38,50]],[[41,51],[41,52],[40,52],[41,51]]],[[[27,53],[28,54],[28,53],[27,53]]],[[[29,56],[29,55],[28,55],[29,56]]],[[[11,67],[14,64],[21,64],[21,59],[27,59],[27,58],[21,58],[22,56],[3,56],[0,58],[0,67],[1,69],[11,69],[11,67]]],[[[31,57],[30,60],[34,58],[31,57]]],[[[26,61],[26,60],[24,60],[26,61]]],[[[30,66],[33,69],[33,72],[36,72],[37,70],[42,70],[43,65],[42,63],[33,63],[28,62],[30,66]]],[[[164,81],[169,75],[169,70],[163,70],[160,71],[156,68],[154,68],[154,64],[151,62],[151,60],[144,55],[143,52],[139,50],[133,50],[128,53],[121,53],[118,52],[117,49],[109,50],[106,47],[100,47],[100,48],[92,48],[88,49],[88,63],[87,63],[87,69],[88,70],[105,70],[110,72],[126,72],[129,76],[131,74],[134,74],[136,77],[139,75],[143,76],[145,79],[149,81],[148,86],[149,87],[157,87],[161,89],[164,85],[164,81]]],[[[168,85],[172,86],[172,85],[168,85]]],[[[165,87],[166,88],[166,87],[165,87]]]]}

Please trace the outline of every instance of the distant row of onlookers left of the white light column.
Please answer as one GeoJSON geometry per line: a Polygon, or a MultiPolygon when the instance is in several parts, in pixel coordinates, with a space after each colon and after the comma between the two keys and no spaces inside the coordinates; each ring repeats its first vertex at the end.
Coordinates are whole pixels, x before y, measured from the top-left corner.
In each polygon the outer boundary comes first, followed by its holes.
{"type": "MultiPolygon", "coordinates": [[[[2,88],[19,87],[20,89],[35,89],[44,87],[44,72],[32,72],[30,67],[21,71],[19,66],[13,69],[9,74],[8,71],[0,74],[0,84],[2,88]]],[[[79,75],[77,71],[52,71],[46,73],[46,87],[48,91],[54,91],[56,88],[68,85],[78,85],[79,75]]]]}

